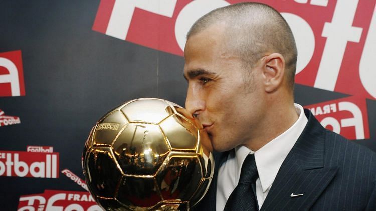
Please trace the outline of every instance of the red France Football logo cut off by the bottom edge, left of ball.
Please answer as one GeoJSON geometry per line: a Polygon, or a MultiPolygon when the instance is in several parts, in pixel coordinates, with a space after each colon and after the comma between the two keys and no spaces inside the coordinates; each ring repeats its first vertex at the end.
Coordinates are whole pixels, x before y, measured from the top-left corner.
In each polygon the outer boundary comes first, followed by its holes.
{"type": "Polygon", "coordinates": [[[22,195],[17,210],[102,211],[89,192],[63,190],[45,190],[41,194],[22,195]]]}

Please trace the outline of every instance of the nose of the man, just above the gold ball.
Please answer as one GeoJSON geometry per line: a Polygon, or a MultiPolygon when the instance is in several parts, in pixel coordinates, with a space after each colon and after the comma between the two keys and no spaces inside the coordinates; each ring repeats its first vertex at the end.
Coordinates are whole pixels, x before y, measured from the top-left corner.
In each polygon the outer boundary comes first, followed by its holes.
{"type": "Polygon", "coordinates": [[[203,93],[194,86],[188,86],[188,91],[185,99],[185,108],[193,117],[197,117],[205,110],[205,99],[203,93]]]}

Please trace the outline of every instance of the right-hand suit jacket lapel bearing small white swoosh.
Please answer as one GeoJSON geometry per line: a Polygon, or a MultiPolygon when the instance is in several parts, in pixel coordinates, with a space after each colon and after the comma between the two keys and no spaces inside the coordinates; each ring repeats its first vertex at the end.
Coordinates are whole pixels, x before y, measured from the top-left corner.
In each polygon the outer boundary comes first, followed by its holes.
{"type": "Polygon", "coordinates": [[[338,170],[324,167],[325,130],[308,110],[305,113],[307,126],[282,163],[261,210],[309,209],[338,170]]]}

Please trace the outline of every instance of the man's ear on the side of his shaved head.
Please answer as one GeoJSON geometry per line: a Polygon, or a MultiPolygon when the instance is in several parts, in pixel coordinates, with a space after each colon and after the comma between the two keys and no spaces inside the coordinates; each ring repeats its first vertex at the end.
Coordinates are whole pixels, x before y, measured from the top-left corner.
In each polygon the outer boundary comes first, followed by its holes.
{"type": "Polygon", "coordinates": [[[285,58],[279,53],[272,53],[263,59],[264,88],[266,92],[275,91],[285,76],[285,58]]]}

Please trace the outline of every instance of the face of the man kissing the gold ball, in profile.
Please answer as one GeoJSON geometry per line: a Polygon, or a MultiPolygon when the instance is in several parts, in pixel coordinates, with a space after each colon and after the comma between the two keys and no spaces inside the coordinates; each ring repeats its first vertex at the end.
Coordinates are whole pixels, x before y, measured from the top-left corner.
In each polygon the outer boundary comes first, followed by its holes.
{"type": "Polygon", "coordinates": [[[185,107],[201,121],[217,151],[246,144],[265,110],[260,71],[245,69],[226,49],[223,29],[213,25],[191,36],[184,50],[185,107]]]}

